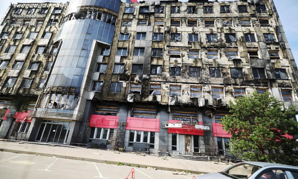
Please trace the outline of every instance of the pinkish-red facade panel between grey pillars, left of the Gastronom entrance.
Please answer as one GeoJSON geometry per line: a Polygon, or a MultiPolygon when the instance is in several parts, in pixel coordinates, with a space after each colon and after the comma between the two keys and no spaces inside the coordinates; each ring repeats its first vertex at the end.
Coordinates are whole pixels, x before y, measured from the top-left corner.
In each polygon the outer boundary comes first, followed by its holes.
{"type": "Polygon", "coordinates": [[[127,117],[126,130],[159,132],[159,119],[127,117]]]}

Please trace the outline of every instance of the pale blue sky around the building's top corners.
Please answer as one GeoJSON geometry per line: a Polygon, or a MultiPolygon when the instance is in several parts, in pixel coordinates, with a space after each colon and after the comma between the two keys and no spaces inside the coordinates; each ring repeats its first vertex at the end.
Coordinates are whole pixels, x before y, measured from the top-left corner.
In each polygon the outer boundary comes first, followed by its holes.
{"type": "MultiPolygon", "coordinates": [[[[10,5],[9,0],[0,0],[0,16],[3,16],[8,6],[10,5]]],[[[183,0],[187,1],[187,0],[183,0]]],[[[226,0],[228,1],[228,0],[226,0]]],[[[67,0],[11,0],[11,3],[16,4],[18,2],[67,2],[67,0]]],[[[292,52],[298,62],[298,21],[297,9],[298,0],[274,0],[275,6],[277,8],[278,14],[282,20],[283,28],[286,32],[287,39],[290,43],[292,52]]]]}

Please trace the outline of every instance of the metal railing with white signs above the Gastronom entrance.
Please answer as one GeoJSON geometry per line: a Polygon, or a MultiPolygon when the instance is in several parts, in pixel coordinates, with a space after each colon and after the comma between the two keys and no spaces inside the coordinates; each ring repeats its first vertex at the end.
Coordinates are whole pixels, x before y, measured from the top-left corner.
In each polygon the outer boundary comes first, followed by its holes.
{"type": "Polygon", "coordinates": [[[212,125],[200,124],[197,122],[161,122],[161,128],[181,128],[181,129],[193,129],[212,131],[212,125]]]}

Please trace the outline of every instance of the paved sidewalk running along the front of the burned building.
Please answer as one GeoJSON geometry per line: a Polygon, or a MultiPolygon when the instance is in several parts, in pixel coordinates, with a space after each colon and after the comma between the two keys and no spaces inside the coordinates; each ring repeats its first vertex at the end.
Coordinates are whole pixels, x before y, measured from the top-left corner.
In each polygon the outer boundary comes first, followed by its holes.
{"type": "MultiPolygon", "coordinates": [[[[48,144],[50,145],[50,144],[48,144]]],[[[137,155],[135,153],[114,153],[111,150],[86,149],[81,147],[62,147],[37,144],[18,144],[17,142],[0,141],[0,149],[6,152],[20,152],[42,156],[56,156],[58,158],[84,160],[98,163],[117,164],[129,163],[131,166],[152,167],[169,171],[190,171],[191,173],[219,172],[228,165],[205,161],[192,161],[186,159],[167,158],[168,160],[153,155],[137,155]]]]}

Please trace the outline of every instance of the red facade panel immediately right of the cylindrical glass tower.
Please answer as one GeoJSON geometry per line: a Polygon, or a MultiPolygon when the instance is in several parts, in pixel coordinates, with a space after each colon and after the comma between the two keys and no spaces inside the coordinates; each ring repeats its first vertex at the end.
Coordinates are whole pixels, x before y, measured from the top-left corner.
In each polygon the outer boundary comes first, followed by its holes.
{"type": "Polygon", "coordinates": [[[92,114],[89,127],[116,129],[119,116],[105,116],[92,114]]]}

